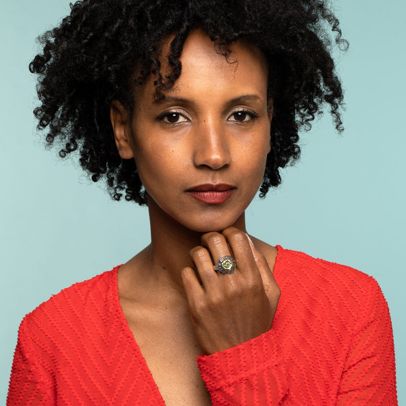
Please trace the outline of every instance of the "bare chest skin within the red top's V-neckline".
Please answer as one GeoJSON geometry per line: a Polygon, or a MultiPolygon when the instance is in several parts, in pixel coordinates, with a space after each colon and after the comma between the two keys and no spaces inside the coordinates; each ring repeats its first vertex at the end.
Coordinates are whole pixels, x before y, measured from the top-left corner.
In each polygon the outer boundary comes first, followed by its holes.
{"type": "Polygon", "coordinates": [[[211,405],[196,362],[202,350],[186,310],[145,312],[126,300],[120,304],[165,405],[211,405]]]}

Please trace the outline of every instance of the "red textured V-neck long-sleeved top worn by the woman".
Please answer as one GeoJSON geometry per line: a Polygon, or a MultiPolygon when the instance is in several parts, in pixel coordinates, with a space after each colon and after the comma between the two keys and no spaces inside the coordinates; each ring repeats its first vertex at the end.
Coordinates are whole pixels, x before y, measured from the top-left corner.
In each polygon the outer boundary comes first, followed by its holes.
{"type": "MultiPolygon", "coordinates": [[[[117,269],[25,316],[7,405],[164,405],[122,313],[117,269]]],[[[272,329],[197,357],[213,405],[396,405],[392,327],[377,282],[278,247],[272,329]]]]}

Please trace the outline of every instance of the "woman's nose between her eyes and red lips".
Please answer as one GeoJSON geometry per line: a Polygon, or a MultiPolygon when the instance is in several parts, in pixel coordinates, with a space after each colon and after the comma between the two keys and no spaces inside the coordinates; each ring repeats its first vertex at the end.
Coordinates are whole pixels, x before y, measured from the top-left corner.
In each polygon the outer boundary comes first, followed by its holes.
{"type": "Polygon", "coordinates": [[[205,120],[196,128],[194,134],[193,163],[197,167],[218,170],[231,163],[229,142],[221,123],[205,120]]]}

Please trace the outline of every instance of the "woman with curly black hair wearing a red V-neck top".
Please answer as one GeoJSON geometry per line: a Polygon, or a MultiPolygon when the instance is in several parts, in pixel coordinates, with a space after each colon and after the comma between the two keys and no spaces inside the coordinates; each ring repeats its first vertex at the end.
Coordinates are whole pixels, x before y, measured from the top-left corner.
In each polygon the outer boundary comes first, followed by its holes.
{"type": "Polygon", "coordinates": [[[376,282],[245,226],[323,103],[342,130],[323,19],[345,45],[316,2],[84,1],[44,36],[47,142],[151,244],[24,318],[8,404],[396,404],[376,282]]]}

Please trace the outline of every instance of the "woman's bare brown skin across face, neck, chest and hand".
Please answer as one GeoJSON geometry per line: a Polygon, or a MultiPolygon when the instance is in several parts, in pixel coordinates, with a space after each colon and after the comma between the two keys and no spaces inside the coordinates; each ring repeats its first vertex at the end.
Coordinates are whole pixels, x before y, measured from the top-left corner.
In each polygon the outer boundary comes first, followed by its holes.
{"type": "Polygon", "coordinates": [[[137,163],[151,224],[151,244],[119,270],[120,304],[167,405],[211,404],[195,357],[269,330],[280,296],[277,251],[249,239],[244,216],[270,150],[266,64],[249,44],[230,49],[238,63],[195,30],[162,102],[151,76],[132,114],[118,101],[111,108],[118,151],[137,163]],[[190,193],[202,184],[232,192],[220,204],[202,202],[190,193]],[[213,269],[224,255],[235,259],[232,275],[213,269]]]}

